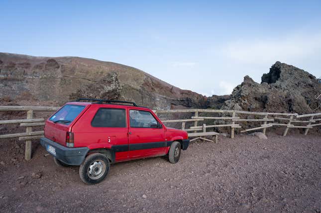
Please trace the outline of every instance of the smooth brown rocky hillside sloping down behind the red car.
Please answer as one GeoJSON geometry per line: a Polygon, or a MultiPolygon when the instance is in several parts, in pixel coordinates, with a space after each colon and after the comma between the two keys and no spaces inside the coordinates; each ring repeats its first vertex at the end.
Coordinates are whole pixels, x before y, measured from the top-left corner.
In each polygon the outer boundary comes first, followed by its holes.
{"type": "Polygon", "coordinates": [[[207,98],[111,62],[0,53],[0,99],[62,104],[79,97],[135,101],[153,109],[207,108],[213,102],[220,107],[229,98],[207,98]]]}

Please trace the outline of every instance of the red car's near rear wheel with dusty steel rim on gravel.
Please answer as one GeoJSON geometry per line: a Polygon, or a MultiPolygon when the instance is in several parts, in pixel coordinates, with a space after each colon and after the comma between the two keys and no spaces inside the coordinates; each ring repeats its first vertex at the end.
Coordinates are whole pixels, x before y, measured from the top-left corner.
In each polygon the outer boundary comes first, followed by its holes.
{"type": "Polygon", "coordinates": [[[79,176],[88,185],[96,184],[105,179],[110,163],[105,154],[94,153],[86,157],[79,167],[79,176]]]}

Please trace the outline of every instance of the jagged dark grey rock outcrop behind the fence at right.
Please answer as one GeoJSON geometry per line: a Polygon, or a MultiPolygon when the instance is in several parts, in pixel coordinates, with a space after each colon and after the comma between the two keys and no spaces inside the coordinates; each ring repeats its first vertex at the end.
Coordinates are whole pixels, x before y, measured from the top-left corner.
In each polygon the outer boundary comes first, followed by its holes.
{"type": "Polygon", "coordinates": [[[245,76],[221,109],[306,114],[321,110],[321,102],[315,98],[320,91],[321,83],[314,75],[276,62],[263,74],[261,84],[245,76]]]}

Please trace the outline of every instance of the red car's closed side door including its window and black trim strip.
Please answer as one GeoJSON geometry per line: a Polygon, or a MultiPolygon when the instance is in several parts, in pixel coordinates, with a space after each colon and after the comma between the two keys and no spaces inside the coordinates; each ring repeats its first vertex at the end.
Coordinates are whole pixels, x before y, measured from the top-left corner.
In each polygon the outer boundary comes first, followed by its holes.
{"type": "Polygon", "coordinates": [[[128,109],[129,157],[160,156],[166,152],[165,130],[148,110],[128,109]]]}

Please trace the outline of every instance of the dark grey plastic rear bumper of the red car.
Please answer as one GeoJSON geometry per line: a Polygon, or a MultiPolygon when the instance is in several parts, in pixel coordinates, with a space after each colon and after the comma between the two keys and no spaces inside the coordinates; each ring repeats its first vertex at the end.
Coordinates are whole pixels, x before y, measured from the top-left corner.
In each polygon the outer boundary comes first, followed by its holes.
{"type": "Polygon", "coordinates": [[[54,147],[56,150],[56,155],[50,152],[49,153],[63,163],[71,166],[81,165],[87,155],[87,152],[89,151],[88,147],[69,148],[47,138],[41,138],[40,143],[46,150],[47,145],[54,147]]]}

